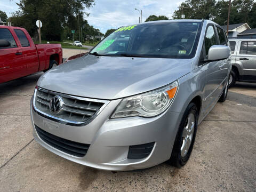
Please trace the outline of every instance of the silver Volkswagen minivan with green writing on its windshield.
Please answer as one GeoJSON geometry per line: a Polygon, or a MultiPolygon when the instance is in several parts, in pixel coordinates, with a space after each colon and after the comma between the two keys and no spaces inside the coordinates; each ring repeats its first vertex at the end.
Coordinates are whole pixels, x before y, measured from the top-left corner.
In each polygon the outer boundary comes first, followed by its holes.
{"type": "Polygon", "coordinates": [[[226,100],[230,54],[225,32],[210,20],[121,27],[39,78],[30,105],[34,137],[97,169],[181,167],[197,125],[226,100]]]}

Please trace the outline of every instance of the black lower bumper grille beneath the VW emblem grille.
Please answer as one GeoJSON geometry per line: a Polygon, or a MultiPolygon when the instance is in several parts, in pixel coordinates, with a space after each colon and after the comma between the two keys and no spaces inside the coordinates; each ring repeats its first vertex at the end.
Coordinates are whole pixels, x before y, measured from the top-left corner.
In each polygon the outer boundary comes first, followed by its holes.
{"type": "Polygon", "coordinates": [[[36,128],[37,134],[44,142],[46,142],[50,146],[52,146],[56,149],[59,149],[67,154],[74,155],[77,157],[83,157],[86,155],[87,150],[90,147],[89,144],[78,143],[75,141],[70,141],[67,139],[57,137],[56,135],[53,135],[51,133],[48,133],[48,132],[40,129],[36,125],[35,125],[35,128],[36,128]]]}

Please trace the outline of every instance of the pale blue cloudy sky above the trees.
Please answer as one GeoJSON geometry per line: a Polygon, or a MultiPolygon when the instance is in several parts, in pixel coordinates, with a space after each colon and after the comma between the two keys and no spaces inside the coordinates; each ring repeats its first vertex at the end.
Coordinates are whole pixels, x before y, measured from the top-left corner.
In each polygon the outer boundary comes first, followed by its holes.
{"type": "MultiPolygon", "coordinates": [[[[16,2],[19,1],[0,0],[0,10],[6,12],[10,17],[12,12],[19,9],[16,2]]],[[[90,13],[89,17],[84,19],[88,21],[89,25],[100,29],[101,33],[105,34],[108,29],[138,23],[140,12],[134,10],[135,8],[142,10],[142,22],[152,14],[165,15],[171,19],[173,12],[182,2],[182,0],[95,0],[93,7],[84,10],[86,13],[90,13]]]]}

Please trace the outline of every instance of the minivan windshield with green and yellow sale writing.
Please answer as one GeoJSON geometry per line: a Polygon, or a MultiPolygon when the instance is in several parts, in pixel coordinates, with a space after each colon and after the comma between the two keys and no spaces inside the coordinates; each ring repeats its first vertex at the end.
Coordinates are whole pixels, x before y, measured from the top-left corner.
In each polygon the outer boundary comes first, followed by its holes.
{"type": "Polygon", "coordinates": [[[91,54],[124,57],[193,58],[201,22],[153,22],[121,27],[91,54]]]}

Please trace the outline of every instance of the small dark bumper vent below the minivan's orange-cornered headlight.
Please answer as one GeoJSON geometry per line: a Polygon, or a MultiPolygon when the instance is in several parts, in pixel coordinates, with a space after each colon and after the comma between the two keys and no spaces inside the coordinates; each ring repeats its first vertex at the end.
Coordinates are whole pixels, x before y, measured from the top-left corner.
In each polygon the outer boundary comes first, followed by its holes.
{"type": "Polygon", "coordinates": [[[130,146],[127,158],[129,159],[146,158],[151,153],[154,145],[155,145],[155,142],[150,142],[142,145],[130,146]]]}

